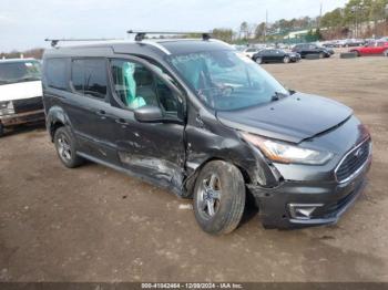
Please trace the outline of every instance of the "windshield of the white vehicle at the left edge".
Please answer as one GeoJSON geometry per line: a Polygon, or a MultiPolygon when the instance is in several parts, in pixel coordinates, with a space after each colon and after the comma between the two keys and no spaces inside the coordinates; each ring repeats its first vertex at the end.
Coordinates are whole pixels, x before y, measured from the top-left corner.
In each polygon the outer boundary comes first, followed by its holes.
{"type": "Polygon", "coordinates": [[[11,84],[41,79],[38,61],[0,62],[0,84],[11,84]]]}

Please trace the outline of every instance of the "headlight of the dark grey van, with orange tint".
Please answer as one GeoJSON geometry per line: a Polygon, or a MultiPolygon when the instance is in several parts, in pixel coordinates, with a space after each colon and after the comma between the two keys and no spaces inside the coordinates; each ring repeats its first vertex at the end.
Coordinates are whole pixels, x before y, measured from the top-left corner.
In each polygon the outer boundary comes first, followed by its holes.
{"type": "Polygon", "coordinates": [[[329,152],[300,148],[249,133],[242,133],[242,135],[245,141],[258,147],[273,162],[320,165],[333,158],[333,153],[329,152]]]}

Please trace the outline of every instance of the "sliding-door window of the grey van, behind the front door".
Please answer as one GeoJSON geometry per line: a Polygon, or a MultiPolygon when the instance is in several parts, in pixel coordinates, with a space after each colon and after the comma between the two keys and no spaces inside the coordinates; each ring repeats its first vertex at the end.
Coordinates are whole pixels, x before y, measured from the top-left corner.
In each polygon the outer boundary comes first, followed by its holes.
{"type": "Polygon", "coordinates": [[[71,81],[76,92],[84,95],[105,99],[108,92],[105,60],[73,60],[71,81]]]}

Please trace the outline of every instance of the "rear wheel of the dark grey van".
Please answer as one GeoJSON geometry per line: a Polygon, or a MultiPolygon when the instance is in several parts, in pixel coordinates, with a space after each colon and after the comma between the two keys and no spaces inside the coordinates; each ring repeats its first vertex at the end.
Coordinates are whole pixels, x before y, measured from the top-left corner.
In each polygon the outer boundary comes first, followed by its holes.
{"type": "Polygon", "coordinates": [[[83,158],[76,155],[76,143],[69,128],[59,127],[55,131],[54,144],[58,157],[65,167],[75,168],[83,163],[83,158]]]}

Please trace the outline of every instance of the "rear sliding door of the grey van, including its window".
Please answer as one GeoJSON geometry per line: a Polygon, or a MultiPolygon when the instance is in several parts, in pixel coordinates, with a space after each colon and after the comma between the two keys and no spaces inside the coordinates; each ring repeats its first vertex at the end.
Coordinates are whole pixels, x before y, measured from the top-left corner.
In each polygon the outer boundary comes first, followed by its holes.
{"type": "Polygon", "coordinates": [[[116,162],[110,141],[106,112],[110,108],[106,59],[71,60],[71,95],[67,112],[81,151],[104,162],[116,162]]]}

